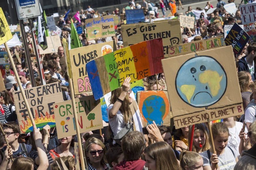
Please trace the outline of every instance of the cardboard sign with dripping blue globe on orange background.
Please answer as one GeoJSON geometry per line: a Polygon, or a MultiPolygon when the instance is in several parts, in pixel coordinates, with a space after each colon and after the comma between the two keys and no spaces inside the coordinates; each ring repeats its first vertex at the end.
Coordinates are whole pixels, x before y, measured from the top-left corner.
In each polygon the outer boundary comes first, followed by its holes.
{"type": "Polygon", "coordinates": [[[137,95],[144,126],[153,124],[153,121],[157,126],[170,126],[171,107],[167,91],[139,91],[137,95]]]}

